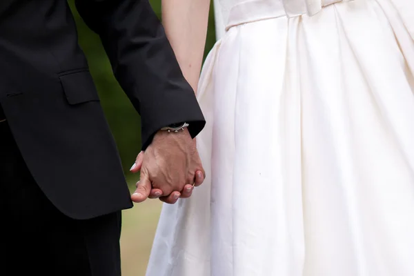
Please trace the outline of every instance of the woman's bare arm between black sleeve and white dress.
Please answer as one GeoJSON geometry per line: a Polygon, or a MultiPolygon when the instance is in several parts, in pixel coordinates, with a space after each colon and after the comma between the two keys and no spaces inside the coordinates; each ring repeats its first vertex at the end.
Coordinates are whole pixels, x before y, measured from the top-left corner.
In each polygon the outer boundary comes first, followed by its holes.
{"type": "Polygon", "coordinates": [[[162,22],[184,77],[197,92],[210,0],[162,0],[162,22]]]}

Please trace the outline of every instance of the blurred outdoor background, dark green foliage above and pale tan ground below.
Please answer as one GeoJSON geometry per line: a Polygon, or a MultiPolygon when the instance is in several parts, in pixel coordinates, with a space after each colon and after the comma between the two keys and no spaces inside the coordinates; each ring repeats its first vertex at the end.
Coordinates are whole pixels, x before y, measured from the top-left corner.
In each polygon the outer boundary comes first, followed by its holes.
{"type": "MultiPolygon", "coordinates": [[[[139,115],[113,77],[110,63],[99,37],[83,23],[73,2],[74,0],[68,0],[77,21],[79,43],[88,58],[90,72],[95,80],[103,110],[106,112],[112,134],[117,142],[122,165],[132,190],[138,176],[131,175],[129,168],[141,148],[139,115]]],[[[161,19],[161,0],[150,0],[150,2],[161,19]]],[[[215,43],[213,14],[212,4],[204,57],[215,43]]],[[[160,210],[159,201],[151,200],[143,204],[136,204],[134,208],[124,211],[121,235],[123,276],[145,275],[160,210]]]]}

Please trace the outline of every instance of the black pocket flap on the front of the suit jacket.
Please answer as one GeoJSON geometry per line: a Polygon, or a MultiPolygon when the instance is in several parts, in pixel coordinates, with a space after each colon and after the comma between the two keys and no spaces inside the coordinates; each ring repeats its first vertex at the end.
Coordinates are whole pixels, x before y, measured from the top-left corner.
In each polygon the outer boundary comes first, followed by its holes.
{"type": "Polygon", "coordinates": [[[59,79],[69,104],[99,101],[95,83],[88,70],[63,73],[59,79]]]}

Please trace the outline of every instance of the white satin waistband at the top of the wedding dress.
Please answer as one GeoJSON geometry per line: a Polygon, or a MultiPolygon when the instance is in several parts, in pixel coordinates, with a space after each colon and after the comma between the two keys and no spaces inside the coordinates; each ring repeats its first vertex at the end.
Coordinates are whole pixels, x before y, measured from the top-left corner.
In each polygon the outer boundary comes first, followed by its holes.
{"type": "Polygon", "coordinates": [[[230,10],[226,31],[234,26],[277,17],[313,16],[325,6],[354,0],[250,0],[230,10]]]}

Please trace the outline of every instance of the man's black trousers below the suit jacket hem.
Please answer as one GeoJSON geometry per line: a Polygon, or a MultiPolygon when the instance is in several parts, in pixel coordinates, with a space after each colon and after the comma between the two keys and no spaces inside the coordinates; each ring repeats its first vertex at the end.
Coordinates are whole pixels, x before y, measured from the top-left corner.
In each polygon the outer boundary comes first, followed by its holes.
{"type": "Polygon", "coordinates": [[[88,220],[60,213],[0,123],[0,275],[119,276],[120,235],[120,212],[88,220]]]}

